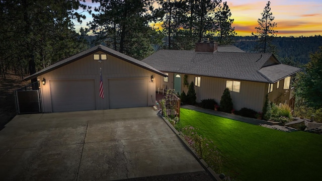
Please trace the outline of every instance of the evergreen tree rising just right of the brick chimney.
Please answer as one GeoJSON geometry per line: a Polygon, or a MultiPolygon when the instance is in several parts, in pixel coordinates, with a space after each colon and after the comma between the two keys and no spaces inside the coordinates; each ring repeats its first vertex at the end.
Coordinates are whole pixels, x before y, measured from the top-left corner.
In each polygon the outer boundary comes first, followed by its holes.
{"type": "Polygon", "coordinates": [[[230,19],[231,12],[227,5],[227,2],[220,6],[216,11],[216,24],[217,24],[217,42],[219,45],[231,45],[233,44],[233,38],[236,35],[235,27],[231,27],[233,19],[230,19]]]}

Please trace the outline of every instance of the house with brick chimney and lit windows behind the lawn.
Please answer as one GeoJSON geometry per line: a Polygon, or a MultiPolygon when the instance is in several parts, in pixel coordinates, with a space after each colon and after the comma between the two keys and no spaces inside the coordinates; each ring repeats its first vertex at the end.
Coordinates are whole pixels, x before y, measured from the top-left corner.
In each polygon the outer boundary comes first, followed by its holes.
{"type": "Polygon", "coordinates": [[[158,50],[142,60],[169,75],[156,76],[159,87],[187,94],[188,83],[195,84],[197,102],[214,99],[218,104],[226,87],[233,108],[261,111],[268,94],[274,103],[293,105],[291,79],[300,68],[281,64],[271,53],[246,53],[235,46],[198,42],[196,50],[158,50]]]}

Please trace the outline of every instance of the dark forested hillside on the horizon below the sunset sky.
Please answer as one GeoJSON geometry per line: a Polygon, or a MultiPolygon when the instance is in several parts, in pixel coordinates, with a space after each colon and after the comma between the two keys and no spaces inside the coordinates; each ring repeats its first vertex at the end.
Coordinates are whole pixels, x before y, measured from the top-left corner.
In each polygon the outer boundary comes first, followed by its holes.
{"type": "MultiPolygon", "coordinates": [[[[256,52],[255,37],[235,36],[234,45],[246,52],[256,52]]],[[[322,46],[322,36],[312,37],[276,37],[273,45],[277,52],[274,53],[279,59],[290,58],[295,62],[306,64],[309,61],[309,54],[316,52],[319,46],[322,46]]]]}

